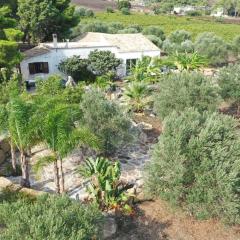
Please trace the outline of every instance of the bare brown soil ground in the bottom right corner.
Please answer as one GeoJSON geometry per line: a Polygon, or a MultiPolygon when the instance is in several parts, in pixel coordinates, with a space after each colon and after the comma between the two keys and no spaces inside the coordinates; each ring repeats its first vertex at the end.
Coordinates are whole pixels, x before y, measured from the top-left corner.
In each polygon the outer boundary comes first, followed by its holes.
{"type": "Polygon", "coordinates": [[[161,200],[138,205],[136,216],[125,219],[113,240],[239,240],[240,226],[227,227],[217,220],[196,220],[173,211],[161,200]]]}

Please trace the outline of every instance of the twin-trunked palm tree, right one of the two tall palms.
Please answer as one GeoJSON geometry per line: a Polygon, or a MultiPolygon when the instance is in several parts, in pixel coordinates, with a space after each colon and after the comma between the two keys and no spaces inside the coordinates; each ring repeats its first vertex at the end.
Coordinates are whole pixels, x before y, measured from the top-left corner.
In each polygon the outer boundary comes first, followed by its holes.
{"type": "Polygon", "coordinates": [[[65,191],[63,158],[77,145],[84,144],[97,148],[98,140],[90,130],[77,127],[80,118],[79,107],[73,104],[59,103],[58,99],[46,101],[39,112],[39,133],[42,141],[51,150],[51,155],[38,159],[34,169],[54,166],[54,181],[56,192],[65,191]]]}

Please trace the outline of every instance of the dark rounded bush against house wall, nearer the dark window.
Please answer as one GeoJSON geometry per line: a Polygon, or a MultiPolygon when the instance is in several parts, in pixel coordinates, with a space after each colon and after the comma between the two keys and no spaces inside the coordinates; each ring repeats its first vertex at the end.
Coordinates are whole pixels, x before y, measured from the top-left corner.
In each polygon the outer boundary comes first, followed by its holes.
{"type": "Polygon", "coordinates": [[[73,56],[62,60],[58,69],[66,75],[70,75],[76,82],[93,81],[94,74],[88,69],[88,59],[82,59],[80,56],[73,56]]]}

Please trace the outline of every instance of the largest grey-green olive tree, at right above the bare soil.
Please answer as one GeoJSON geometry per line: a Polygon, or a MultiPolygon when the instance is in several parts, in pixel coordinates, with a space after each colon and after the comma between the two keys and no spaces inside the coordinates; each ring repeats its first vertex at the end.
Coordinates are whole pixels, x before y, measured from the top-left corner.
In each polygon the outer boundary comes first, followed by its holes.
{"type": "Polygon", "coordinates": [[[147,190],[198,218],[240,223],[240,137],[232,117],[186,109],[164,121],[147,190]]]}

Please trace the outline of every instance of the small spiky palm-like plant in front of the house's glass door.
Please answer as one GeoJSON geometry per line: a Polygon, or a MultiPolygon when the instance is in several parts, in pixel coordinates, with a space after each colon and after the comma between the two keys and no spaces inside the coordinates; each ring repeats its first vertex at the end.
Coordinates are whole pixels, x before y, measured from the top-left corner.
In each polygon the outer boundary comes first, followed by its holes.
{"type": "Polygon", "coordinates": [[[144,108],[150,103],[150,90],[144,82],[132,82],[124,91],[124,96],[133,111],[142,112],[144,108]]]}

